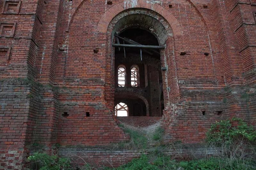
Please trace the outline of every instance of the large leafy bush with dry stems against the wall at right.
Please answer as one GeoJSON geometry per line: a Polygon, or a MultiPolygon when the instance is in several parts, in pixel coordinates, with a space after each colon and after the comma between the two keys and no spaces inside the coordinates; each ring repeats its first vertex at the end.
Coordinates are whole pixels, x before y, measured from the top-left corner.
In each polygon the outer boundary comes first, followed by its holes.
{"type": "Polygon", "coordinates": [[[220,150],[219,158],[233,169],[256,169],[256,131],[240,118],[212,124],[206,142],[220,150]]]}

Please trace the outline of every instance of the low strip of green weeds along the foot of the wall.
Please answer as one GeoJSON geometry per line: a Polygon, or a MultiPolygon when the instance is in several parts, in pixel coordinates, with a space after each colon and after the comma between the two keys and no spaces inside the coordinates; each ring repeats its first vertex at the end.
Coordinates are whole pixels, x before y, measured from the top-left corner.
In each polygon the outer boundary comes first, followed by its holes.
{"type": "MultiPolygon", "coordinates": [[[[229,159],[204,158],[190,161],[172,160],[170,156],[155,155],[150,159],[150,155],[141,155],[140,158],[132,159],[131,162],[114,167],[93,167],[89,164],[80,166],[79,170],[254,170],[256,168],[255,160],[243,161],[235,159],[230,162],[229,159]]],[[[39,170],[71,170],[71,161],[67,158],[58,158],[47,154],[36,153],[28,158],[30,161],[40,162],[42,167],[39,170]],[[40,161],[38,160],[40,159],[40,161]]]]}

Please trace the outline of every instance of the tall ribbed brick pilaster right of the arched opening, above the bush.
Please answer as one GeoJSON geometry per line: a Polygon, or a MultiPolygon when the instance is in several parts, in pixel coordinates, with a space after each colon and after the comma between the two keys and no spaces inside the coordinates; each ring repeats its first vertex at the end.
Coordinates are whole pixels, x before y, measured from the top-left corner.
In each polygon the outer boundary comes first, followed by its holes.
{"type": "Polygon", "coordinates": [[[211,1],[212,14],[220,44],[226,85],[242,84],[242,61],[238,51],[234,25],[228,9],[228,1],[211,1]]]}

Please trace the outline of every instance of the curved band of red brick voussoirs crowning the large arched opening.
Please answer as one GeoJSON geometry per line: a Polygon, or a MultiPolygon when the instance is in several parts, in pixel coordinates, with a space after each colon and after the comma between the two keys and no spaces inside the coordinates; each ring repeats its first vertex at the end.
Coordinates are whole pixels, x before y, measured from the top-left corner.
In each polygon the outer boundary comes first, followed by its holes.
{"type": "Polygon", "coordinates": [[[146,8],[155,11],[169,23],[174,36],[182,34],[182,28],[179,21],[174,17],[174,15],[172,15],[170,11],[159,4],[146,0],[127,0],[112,6],[101,16],[97,25],[97,31],[100,33],[107,33],[111,20],[120,12],[130,8],[146,8]]]}

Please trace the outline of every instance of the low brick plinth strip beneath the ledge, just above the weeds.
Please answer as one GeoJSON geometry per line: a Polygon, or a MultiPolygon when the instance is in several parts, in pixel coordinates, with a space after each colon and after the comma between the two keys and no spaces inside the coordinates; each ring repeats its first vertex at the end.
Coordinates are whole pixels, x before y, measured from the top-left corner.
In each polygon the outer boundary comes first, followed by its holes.
{"type": "Polygon", "coordinates": [[[92,166],[114,166],[118,167],[124,163],[128,163],[133,158],[139,158],[142,154],[153,154],[156,150],[162,154],[170,155],[173,158],[184,157],[186,159],[200,158],[204,155],[217,155],[218,150],[204,147],[202,145],[173,145],[165,149],[156,149],[151,146],[150,149],[132,149],[132,148],[104,148],[104,147],[89,147],[89,148],[60,148],[59,155],[69,157],[73,162],[89,163],[92,166]],[[73,155],[73,156],[72,156],[73,155]],[[74,156],[77,155],[77,156],[74,156]],[[82,158],[82,159],[81,159],[82,158]],[[85,161],[85,162],[84,162],[85,161]]]}

